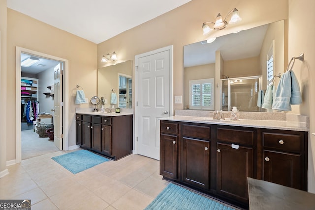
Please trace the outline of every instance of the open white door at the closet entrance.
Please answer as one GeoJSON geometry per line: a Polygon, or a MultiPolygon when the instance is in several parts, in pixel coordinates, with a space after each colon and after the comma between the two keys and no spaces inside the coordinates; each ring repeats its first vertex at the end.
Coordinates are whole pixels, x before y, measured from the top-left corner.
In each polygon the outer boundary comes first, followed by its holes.
{"type": "Polygon", "coordinates": [[[63,149],[63,63],[54,67],[54,144],[63,149]]]}

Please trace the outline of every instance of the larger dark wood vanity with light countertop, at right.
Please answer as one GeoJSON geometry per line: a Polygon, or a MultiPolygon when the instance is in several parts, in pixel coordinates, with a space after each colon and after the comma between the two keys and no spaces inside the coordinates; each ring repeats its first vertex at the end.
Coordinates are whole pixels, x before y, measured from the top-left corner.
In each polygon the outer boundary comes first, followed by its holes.
{"type": "Polygon", "coordinates": [[[307,190],[307,128],[286,121],[160,121],[160,174],[248,209],[247,177],[307,190]]]}

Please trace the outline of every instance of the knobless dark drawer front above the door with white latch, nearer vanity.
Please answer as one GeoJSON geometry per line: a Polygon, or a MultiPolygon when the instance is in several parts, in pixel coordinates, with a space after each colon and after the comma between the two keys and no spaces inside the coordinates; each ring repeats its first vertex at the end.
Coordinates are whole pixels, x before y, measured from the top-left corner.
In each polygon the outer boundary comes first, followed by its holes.
{"type": "Polygon", "coordinates": [[[217,128],[217,139],[224,142],[253,145],[254,138],[254,130],[238,130],[220,127],[217,128]]]}

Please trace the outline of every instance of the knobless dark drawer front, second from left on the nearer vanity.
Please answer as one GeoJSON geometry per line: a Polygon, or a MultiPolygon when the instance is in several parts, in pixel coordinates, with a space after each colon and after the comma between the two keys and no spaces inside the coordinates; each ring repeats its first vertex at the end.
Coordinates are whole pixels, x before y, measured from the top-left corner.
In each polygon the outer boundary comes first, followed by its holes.
{"type": "Polygon", "coordinates": [[[182,134],[185,137],[210,139],[210,127],[192,124],[182,125],[182,134]]]}

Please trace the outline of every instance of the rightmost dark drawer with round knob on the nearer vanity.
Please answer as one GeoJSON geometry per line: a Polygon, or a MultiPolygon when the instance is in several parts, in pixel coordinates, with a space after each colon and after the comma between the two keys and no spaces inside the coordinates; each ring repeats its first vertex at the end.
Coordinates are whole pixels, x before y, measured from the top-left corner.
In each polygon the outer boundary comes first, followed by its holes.
{"type": "Polygon", "coordinates": [[[303,150],[303,137],[289,133],[262,133],[262,142],[265,148],[301,152],[303,150]]]}

